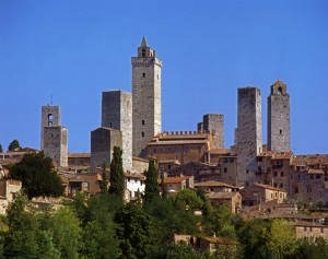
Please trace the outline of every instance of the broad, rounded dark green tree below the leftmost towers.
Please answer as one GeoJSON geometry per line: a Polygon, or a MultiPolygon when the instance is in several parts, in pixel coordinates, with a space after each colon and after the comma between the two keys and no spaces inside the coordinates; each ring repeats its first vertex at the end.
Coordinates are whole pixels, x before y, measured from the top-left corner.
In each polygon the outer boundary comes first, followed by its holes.
{"type": "Polygon", "coordinates": [[[52,160],[43,152],[27,153],[21,162],[10,167],[10,179],[22,181],[24,192],[31,200],[34,197],[60,197],[63,186],[52,160]]]}

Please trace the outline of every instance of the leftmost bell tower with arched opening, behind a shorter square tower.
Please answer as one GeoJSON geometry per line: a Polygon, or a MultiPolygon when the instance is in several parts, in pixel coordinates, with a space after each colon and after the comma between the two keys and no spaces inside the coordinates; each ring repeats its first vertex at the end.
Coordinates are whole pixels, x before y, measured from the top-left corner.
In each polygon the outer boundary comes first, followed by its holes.
{"type": "Polygon", "coordinates": [[[47,126],[60,126],[60,106],[45,105],[42,106],[42,136],[40,150],[44,150],[44,128],[47,126]]]}

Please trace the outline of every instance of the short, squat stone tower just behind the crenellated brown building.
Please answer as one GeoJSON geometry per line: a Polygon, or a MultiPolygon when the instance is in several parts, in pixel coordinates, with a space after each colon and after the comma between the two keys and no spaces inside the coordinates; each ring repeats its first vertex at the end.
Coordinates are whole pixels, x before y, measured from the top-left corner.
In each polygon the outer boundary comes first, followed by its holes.
{"type": "Polygon", "coordinates": [[[224,149],[224,115],[208,114],[202,121],[203,130],[212,133],[213,149],[224,149]]]}

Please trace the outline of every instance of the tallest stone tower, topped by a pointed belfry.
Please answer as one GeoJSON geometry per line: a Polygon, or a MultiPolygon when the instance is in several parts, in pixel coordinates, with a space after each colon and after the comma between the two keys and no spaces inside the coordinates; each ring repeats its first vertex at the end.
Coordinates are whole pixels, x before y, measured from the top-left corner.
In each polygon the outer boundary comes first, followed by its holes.
{"type": "Polygon", "coordinates": [[[156,58],[142,38],[138,57],[132,57],[132,154],[145,156],[147,144],[162,130],[161,71],[156,58]]]}

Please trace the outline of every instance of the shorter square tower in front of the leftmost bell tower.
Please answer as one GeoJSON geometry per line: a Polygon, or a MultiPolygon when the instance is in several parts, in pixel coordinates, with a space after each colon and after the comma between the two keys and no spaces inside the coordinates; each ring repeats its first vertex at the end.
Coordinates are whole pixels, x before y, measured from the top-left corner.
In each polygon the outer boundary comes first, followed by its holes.
{"type": "Polygon", "coordinates": [[[68,166],[68,130],[61,126],[44,127],[44,152],[56,162],[57,167],[68,166]]]}

